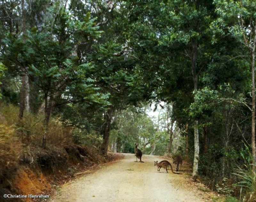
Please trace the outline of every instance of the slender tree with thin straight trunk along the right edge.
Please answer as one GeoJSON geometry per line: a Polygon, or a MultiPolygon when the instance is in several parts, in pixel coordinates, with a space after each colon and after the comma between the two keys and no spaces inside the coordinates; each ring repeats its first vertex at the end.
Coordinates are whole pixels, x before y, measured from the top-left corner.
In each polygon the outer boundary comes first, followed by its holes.
{"type": "MultiPolygon", "coordinates": [[[[256,7],[255,1],[218,1],[215,0],[218,19],[213,24],[216,33],[230,35],[244,48],[244,54],[248,56],[251,69],[251,105],[252,112],[252,163],[256,162],[255,149],[255,48],[256,48],[256,7]]],[[[241,55],[238,55],[241,57],[241,55]]],[[[242,55],[243,56],[243,55],[242,55]]],[[[247,103],[244,102],[245,105],[247,103]]]]}

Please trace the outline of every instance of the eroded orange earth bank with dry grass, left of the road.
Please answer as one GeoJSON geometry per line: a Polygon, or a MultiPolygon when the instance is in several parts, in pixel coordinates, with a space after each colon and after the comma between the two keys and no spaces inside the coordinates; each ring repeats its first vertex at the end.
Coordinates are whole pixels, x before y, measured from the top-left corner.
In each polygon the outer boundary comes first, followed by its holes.
{"type": "Polygon", "coordinates": [[[0,102],[0,193],[45,192],[51,189],[50,182],[66,182],[76,172],[119,158],[115,154],[103,157],[96,146],[72,143],[72,128],[53,118],[47,148],[42,149],[44,114],[24,113],[21,121],[18,115],[17,106],[0,102]]]}

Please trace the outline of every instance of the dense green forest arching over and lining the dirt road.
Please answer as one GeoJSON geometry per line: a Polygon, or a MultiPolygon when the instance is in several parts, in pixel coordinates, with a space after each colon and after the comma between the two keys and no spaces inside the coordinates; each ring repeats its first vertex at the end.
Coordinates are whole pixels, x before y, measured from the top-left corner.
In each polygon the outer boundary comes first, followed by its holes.
{"type": "Polygon", "coordinates": [[[256,1],[3,0],[0,19],[0,182],[32,148],[139,144],[256,200],[256,1]]]}

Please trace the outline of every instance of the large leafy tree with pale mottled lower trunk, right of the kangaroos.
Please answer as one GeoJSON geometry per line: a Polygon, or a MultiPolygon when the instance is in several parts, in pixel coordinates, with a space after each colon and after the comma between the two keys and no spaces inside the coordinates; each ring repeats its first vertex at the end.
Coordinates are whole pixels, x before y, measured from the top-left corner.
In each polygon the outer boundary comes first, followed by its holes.
{"type": "MultiPolygon", "coordinates": [[[[163,1],[155,4],[139,1],[137,4],[140,4],[140,7],[144,6],[144,11],[134,4],[136,3],[132,2],[129,7],[134,10],[132,12],[134,19],[131,20],[135,21],[132,28],[133,34],[136,33],[135,36],[131,36],[135,39],[131,46],[138,52],[137,57],[143,60],[142,68],[145,68],[143,65],[150,64],[143,70],[144,78],[150,81],[152,89],[157,89],[154,92],[157,103],[160,100],[176,101],[178,89],[183,93],[182,87],[187,88],[188,94],[184,94],[186,96],[184,100],[187,101],[184,103],[188,108],[193,102],[191,98],[194,99],[200,87],[199,76],[207,69],[210,59],[204,53],[211,48],[208,27],[214,19],[212,2],[163,1]],[[191,81],[192,85],[188,81],[191,81]]],[[[198,118],[196,117],[193,122],[195,147],[193,178],[196,180],[199,160],[198,118]]]]}

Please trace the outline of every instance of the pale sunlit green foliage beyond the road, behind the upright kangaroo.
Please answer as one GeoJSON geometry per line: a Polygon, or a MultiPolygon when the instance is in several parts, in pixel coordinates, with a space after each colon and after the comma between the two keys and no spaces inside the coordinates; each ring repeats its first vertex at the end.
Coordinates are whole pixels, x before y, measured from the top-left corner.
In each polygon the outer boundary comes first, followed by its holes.
{"type": "MultiPolygon", "coordinates": [[[[130,106],[126,110],[116,112],[112,124],[113,129],[110,131],[110,142],[117,144],[118,152],[133,153],[134,144],[139,144],[142,149],[144,145],[151,145],[155,142],[156,130],[154,126],[153,121],[143,108],[141,110],[130,106]]],[[[146,150],[145,152],[147,153],[146,150]]],[[[143,151],[143,153],[145,152],[143,151]]]]}

